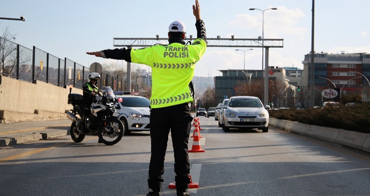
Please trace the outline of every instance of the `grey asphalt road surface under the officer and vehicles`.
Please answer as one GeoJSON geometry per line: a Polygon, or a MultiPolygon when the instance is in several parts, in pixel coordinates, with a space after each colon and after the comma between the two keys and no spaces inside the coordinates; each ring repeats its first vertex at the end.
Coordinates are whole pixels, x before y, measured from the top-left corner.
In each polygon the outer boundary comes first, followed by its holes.
{"type": "MultiPolygon", "coordinates": [[[[370,157],[281,130],[231,130],[199,117],[201,148],[189,153],[197,196],[370,195],[370,157]]],[[[194,130],[194,128],[192,129],[194,130]]],[[[148,192],[149,132],[106,146],[70,136],[0,147],[0,195],[122,195],[148,192]]],[[[189,148],[192,148],[190,140],[189,148]]],[[[176,195],[171,140],[163,196],[176,195]]]]}

